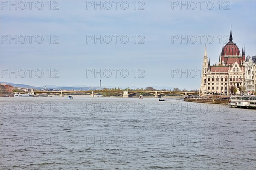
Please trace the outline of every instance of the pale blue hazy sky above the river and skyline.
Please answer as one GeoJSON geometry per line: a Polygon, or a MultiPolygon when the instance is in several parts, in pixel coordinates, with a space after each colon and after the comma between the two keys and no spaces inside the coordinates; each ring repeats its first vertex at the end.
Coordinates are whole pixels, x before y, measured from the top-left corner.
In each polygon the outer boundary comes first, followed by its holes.
{"type": "Polygon", "coordinates": [[[256,55],[255,0],[0,1],[1,81],[199,89],[204,48],[256,55]]]}

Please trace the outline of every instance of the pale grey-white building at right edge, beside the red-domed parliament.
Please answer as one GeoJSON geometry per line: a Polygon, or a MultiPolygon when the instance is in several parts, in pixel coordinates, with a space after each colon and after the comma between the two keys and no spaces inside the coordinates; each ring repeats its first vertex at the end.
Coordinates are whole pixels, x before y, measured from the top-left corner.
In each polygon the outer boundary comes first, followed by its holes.
{"type": "Polygon", "coordinates": [[[256,93],[256,56],[245,59],[245,91],[256,93]]]}

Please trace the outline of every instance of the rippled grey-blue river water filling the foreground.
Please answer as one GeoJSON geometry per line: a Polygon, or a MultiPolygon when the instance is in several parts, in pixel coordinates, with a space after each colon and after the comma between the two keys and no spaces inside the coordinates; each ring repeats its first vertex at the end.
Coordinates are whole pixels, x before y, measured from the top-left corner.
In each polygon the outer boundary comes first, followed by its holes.
{"type": "Polygon", "coordinates": [[[1,98],[0,169],[256,169],[256,110],[156,98],[1,98]]]}

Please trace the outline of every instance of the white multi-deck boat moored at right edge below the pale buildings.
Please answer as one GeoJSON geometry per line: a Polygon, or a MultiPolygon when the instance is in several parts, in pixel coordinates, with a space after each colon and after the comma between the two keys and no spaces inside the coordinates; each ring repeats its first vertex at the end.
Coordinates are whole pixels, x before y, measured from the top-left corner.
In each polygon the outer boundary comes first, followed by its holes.
{"type": "Polygon", "coordinates": [[[256,109],[256,96],[231,96],[228,105],[230,108],[256,109]]]}

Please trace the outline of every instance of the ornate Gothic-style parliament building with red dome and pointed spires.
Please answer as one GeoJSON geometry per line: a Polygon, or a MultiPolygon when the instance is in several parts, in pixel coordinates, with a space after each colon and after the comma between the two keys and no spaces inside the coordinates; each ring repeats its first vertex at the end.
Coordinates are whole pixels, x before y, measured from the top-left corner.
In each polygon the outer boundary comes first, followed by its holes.
{"type": "Polygon", "coordinates": [[[238,88],[239,91],[242,91],[244,88],[244,65],[244,47],[242,54],[240,54],[239,48],[233,42],[232,30],[230,29],[229,42],[222,48],[217,65],[210,65],[205,46],[201,94],[234,94],[238,88]]]}

